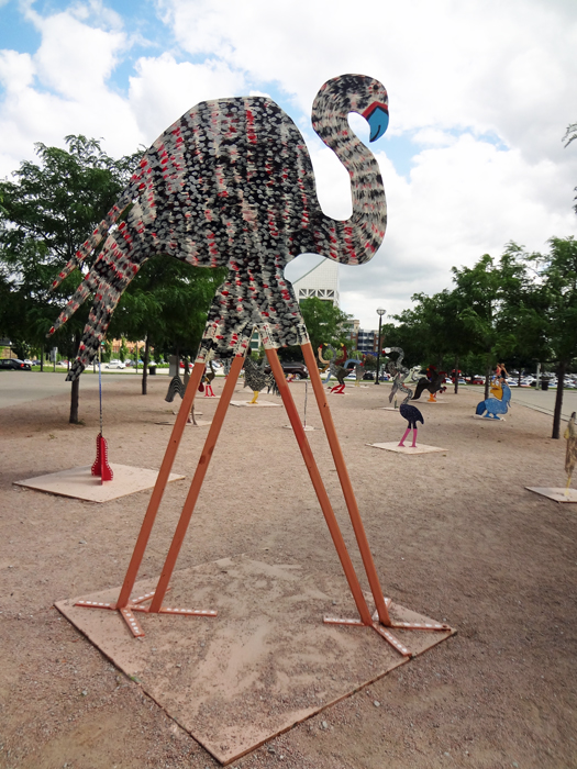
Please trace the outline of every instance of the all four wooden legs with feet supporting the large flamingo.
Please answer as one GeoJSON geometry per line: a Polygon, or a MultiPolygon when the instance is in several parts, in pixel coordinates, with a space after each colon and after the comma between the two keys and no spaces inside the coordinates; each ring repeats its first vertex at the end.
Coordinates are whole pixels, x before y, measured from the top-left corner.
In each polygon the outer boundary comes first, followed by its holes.
{"type": "MultiPolygon", "coordinates": [[[[359,615],[359,618],[324,617],[324,622],[328,624],[343,624],[359,627],[370,627],[374,631],[376,631],[385,640],[387,640],[397,651],[399,651],[403,656],[410,657],[412,655],[410,649],[407,648],[404,644],[402,644],[398,638],[396,638],[389,628],[398,628],[402,631],[419,629],[444,632],[451,629],[451,627],[446,624],[440,623],[426,623],[426,625],[417,625],[414,623],[400,623],[391,620],[389,615],[389,606],[391,602],[390,599],[384,597],[382,590],[380,588],[377,570],[373,560],[373,555],[370,553],[363,521],[360,519],[360,513],[358,511],[358,505],[355,499],[348,471],[346,469],[343,453],[341,449],[341,444],[339,443],[332,415],[329,409],[329,403],[326,401],[324,388],[321,381],[319,369],[317,367],[317,360],[314,358],[314,354],[310,343],[301,345],[301,349],[304,356],[304,361],[309,369],[309,374],[311,376],[314,395],[319,405],[319,411],[321,414],[323,426],[329,438],[329,445],[336,467],[336,472],[339,475],[339,480],[341,482],[341,488],[345,498],[348,515],[353,525],[353,531],[355,533],[356,542],[360,551],[360,557],[363,559],[363,565],[365,567],[368,583],[370,586],[370,592],[373,594],[373,599],[375,601],[376,606],[376,611],[371,615],[367,601],[360,588],[358,577],[351,560],[351,556],[346,548],[346,544],[339,527],[339,523],[336,521],[334,511],[329,500],[326,489],[319,472],[319,468],[314,460],[314,456],[307,439],[304,427],[299,419],[297,406],[292,399],[292,393],[285,378],[282,368],[280,366],[277,352],[275,348],[267,348],[266,355],[268,358],[268,363],[275,376],[275,380],[280,397],[282,399],[282,403],[285,405],[295,436],[299,444],[304,465],[307,466],[307,470],[309,471],[311,482],[314,487],[314,491],[319,499],[324,520],[326,521],[329,532],[331,534],[333,544],[335,546],[339,559],[343,567],[344,575],[346,577],[348,587],[353,594],[353,599],[355,601],[359,615]]],[[[144,636],[144,632],[136,622],[134,617],[134,612],[178,614],[184,616],[217,616],[217,612],[212,610],[164,608],[163,601],[166,592],[169,590],[169,581],[173,576],[173,571],[176,566],[176,561],[180,553],[180,548],[182,546],[190,520],[192,517],[192,513],[195,511],[200,489],[204,481],[204,477],[207,475],[207,470],[210,465],[210,460],[214,447],[217,445],[222,424],[224,422],[224,416],[226,415],[226,410],[232,399],[234,388],[238,379],[238,375],[243,367],[243,363],[244,357],[236,356],[232,363],[229,376],[226,377],[224,389],[219,400],[219,404],[217,406],[217,411],[214,413],[209,434],[204,442],[204,446],[197,469],[195,471],[195,476],[192,478],[190,489],[182,508],[182,512],[180,513],[180,519],[176,526],[173,542],[170,544],[156,589],[147,593],[146,595],[141,595],[134,599],[130,598],[134,588],[134,583],[136,581],[142,559],[144,557],[144,551],[146,549],[152,533],[152,528],[156,519],[156,514],[158,512],[164,490],[168,481],[170,469],[173,467],[173,462],[175,460],[178,446],[180,444],[180,438],[186,427],[187,417],[190,413],[195,395],[197,393],[199,383],[204,372],[204,364],[199,361],[195,364],[192,374],[190,376],[190,380],[184,394],[182,403],[180,405],[176,423],[173,427],[173,433],[170,435],[170,441],[168,443],[165,457],[163,459],[163,464],[158,472],[158,478],[154,487],[138,537],[136,539],[136,544],[134,546],[134,551],[129,564],[129,568],[119,595],[119,600],[116,601],[116,603],[110,604],[96,603],[90,601],[78,601],[75,605],[84,606],[86,609],[103,609],[109,611],[119,611],[121,616],[126,622],[131,633],[135,637],[144,636]],[[148,602],[149,605],[145,606],[144,604],[148,602]]]]}

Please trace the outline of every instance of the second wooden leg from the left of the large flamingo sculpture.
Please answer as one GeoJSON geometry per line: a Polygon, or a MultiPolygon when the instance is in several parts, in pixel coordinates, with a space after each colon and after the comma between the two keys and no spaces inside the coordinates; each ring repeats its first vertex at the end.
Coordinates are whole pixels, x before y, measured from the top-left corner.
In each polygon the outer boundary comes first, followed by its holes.
{"type": "Polygon", "coordinates": [[[180,547],[182,546],[182,543],[185,540],[190,519],[192,517],[192,513],[195,512],[195,505],[197,504],[198,495],[200,493],[204,476],[207,475],[212,453],[214,450],[214,446],[217,445],[222,423],[224,422],[224,416],[226,415],[226,410],[231,402],[231,398],[236,386],[236,380],[238,379],[238,375],[243,367],[243,363],[244,357],[235,357],[231,366],[229,376],[226,377],[224,389],[222,391],[219,405],[217,406],[217,411],[214,412],[212,424],[210,425],[209,434],[207,435],[204,447],[202,449],[202,454],[200,455],[200,459],[197,465],[197,470],[195,472],[195,477],[192,478],[192,482],[190,484],[190,489],[185,502],[185,506],[182,508],[182,512],[180,513],[180,519],[178,521],[178,525],[176,527],[175,535],[173,537],[173,542],[168,550],[168,555],[166,556],[160,579],[158,580],[158,584],[156,586],[154,598],[148,610],[151,613],[160,611],[163,599],[168,588],[170,577],[173,576],[176,560],[178,558],[178,554],[180,553],[180,547]]]}

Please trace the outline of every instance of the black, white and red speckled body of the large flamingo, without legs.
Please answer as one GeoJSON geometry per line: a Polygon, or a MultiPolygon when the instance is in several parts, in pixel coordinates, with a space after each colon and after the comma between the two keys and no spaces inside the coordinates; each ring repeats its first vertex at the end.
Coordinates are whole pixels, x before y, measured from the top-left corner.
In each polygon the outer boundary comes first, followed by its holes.
{"type": "MultiPolygon", "coordinates": [[[[300,132],[266,97],[201,102],[167,129],[143,155],[137,172],[106,219],[59,274],[58,285],[106,238],[93,266],[51,333],[93,294],[68,379],[95,356],[118,301],[152,256],[229,268],[208,313],[198,361],[244,352],[256,325],[271,347],[309,342],[284,269],[299,254],[368,261],[387,224],[377,161],[352,132],[362,114],[370,141],[388,125],[384,86],[364,75],[329,80],[312,105],[312,126],[348,170],[353,214],[326,216],[300,132]]],[[[265,345],[266,346],[266,345],[265,345]]]]}

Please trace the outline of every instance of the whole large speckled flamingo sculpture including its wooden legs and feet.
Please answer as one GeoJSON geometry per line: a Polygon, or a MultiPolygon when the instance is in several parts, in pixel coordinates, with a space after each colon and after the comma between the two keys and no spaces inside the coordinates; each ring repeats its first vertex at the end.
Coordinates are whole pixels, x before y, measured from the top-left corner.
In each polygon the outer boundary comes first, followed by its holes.
{"type": "Polygon", "coordinates": [[[287,263],[306,252],[356,265],[368,261],[380,246],[387,223],[382,179],[371,153],[351,131],[347,115],[364,115],[374,141],[387,129],[387,103],[381,83],[363,75],[334,78],[314,99],[313,129],[336,153],[351,177],[353,215],[346,221],[333,220],[322,212],[304,141],[275,102],[264,97],[245,97],[198,104],[144,154],[137,174],[116,204],[59,274],[56,285],[79,267],[106,236],[96,263],[54,327],[65,323],[93,293],[79,354],[68,375],[74,380],[92,359],[122,292],[146,259],[169,255],[191,265],[229,268],[209,310],[190,383],[119,599],[102,606],[90,601],[78,601],[76,605],[119,610],[135,636],[144,635],[134,618],[135,611],[214,616],[213,611],[168,609],[162,604],[256,325],[360,617],[325,617],[325,622],[370,626],[406,656],[411,651],[388,628],[447,629],[447,625],[399,623],[389,616],[307,328],[292,287],[284,277],[287,263]],[[125,220],[121,221],[125,212],[125,220]],[[295,344],[301,345],[311,371],[378,622],[368,609],[276,353],[277,347],[295,344]],[[233,358],[230,374],[156,590],[134,600],[131,593],[186,419],[206,363],[214,353],[224,360],[233,358]],[[151,601],[147,609],[143,609],[143,601],[151,601]]]}

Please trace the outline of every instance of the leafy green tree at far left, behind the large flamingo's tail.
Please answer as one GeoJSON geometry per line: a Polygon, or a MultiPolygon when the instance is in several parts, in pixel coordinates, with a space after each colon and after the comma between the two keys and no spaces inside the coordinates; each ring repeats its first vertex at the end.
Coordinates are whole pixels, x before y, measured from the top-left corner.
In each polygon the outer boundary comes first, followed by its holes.
{"type": "MultiPolygon", "coordinates": [[[[36,144],[38,163],[24,160],[14,181],[0,181],[0,265],[10,305],[20,310],[0,313],[0,333],[41,349],[82,274],[73,272],[54,292],[53,280],[112,208],[140,157],[114,160],[99,142],[81,135],[65,141],[66,149],[36,144]]],[[[77,312],[53,344],[75,355],[87,316],[87,308],[77,312]]],[[[73,423],[78,422],[78,387],[79,380],[73,382],[73,423]]]]}

